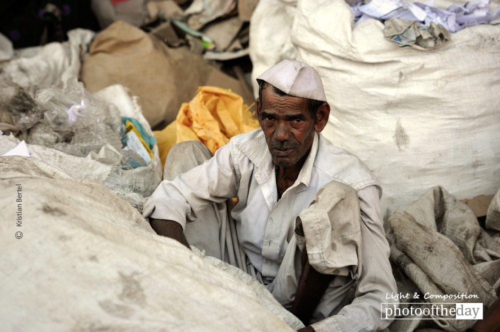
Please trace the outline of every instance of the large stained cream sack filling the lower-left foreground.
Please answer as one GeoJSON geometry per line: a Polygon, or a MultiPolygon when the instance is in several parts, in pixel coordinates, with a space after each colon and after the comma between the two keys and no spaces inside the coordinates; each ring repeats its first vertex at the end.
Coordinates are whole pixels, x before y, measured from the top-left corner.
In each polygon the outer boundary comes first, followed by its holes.
{"type": "Polygon", "coordinates": [[[0,263],[2,331],[293,330],[270,310],[298,321],[103,185],[33,158],[0,157],[0,263]]]}

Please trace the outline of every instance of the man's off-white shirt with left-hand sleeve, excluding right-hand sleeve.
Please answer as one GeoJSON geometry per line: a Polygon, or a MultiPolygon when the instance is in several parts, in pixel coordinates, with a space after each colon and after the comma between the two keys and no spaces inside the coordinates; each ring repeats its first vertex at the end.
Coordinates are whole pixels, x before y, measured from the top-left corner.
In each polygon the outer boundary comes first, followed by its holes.
{"type": "Polygon", "coordinates": [[[144,205],[144,216],[179,222],[195,220],[212,202],[238,199],[231,216],[241,246],[263,277],[275,277],[293,221],[325,183],[340,181],[355,190],[377,186],[376,178],[353,155],[316,134],[295,183],[278,202],[275,165],[262,130],[233,137],[214,158],[173,181],[163,181],[144,205]]]}

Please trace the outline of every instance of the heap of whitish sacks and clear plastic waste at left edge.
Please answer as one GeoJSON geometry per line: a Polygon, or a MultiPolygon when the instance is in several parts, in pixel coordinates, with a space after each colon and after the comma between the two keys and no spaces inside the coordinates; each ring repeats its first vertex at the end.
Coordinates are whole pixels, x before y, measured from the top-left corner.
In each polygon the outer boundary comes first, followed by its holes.
{"type": "Polygon", "coordinates": [[[28,143],[25,155],[73,178],[99,181],[141,210],[162,180],[158,146],[137,98],[123,86],[91,94],[78,82],[81,50],[93,36],[75,30],[67,43],[47,44],[0,66],[0,155],[28,143]],[[130,134],[127,121],[142,135],[130,134]],[[133,145],[131,135],[148,144],[133,145]]]}

